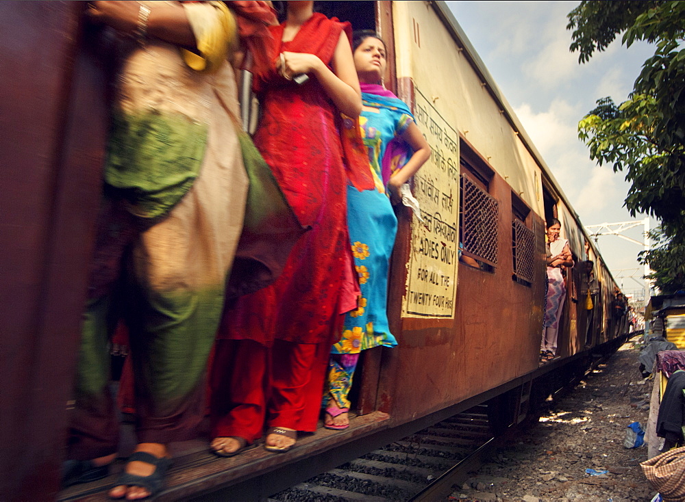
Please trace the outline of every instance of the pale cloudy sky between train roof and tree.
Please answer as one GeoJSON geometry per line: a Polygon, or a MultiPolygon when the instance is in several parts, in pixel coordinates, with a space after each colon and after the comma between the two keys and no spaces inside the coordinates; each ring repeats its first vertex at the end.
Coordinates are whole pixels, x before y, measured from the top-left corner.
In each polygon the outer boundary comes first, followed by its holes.
{"type": "MultiPolygon", "coordinates": [[[[579,64],[577,53],[569,51],[566,15],[580,1],[446,3],[583,224],[635,220],[623,207],[630,184],[621,172],[590,161],[577,124],[599,98],[625,101],[654,48],[637,42],[626,49],[619,36],[606,51],[579,64]]],[[[626,234],[642,241],[643,229],[626,234]]],[[[642,294],[644,266],[637,262],[642,248],[613,235],[599,237],[598,245],[623,291],[642,294]]]]}

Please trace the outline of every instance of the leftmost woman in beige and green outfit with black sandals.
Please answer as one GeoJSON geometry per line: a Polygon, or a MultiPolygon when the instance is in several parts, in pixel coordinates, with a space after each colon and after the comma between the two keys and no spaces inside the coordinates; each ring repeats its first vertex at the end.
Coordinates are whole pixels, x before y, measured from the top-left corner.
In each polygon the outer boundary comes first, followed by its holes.
{"type": "Polygon", "coordinates": [[[62,484],[105,477],[116,457],[108,340],[121,315],[137,445],[109,494],[138,500],[162,489],[167,445],[195,437],[203,418],[207,360],[248,192],[228,60],[238,52],[238,25],[266,35],[259,17],[272,14],[256,1],[88,7],[110,42],[100,52],[117,65],[62,484]]]}

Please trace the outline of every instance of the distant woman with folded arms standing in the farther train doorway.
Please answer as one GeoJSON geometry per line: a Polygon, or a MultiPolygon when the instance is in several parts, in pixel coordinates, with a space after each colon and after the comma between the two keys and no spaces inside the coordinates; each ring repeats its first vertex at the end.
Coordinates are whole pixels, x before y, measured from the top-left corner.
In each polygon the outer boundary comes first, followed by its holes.
{"type": "Polygon", "coordinates": [[[565,267],[573,267],[569,241],[559,237],[561,223],[556,218],[547,222],[547,302],[543,321],[543,340],[540,344],[540,360],[547,362],[556,356],[559,321],[566,300],[564,284],[565,267]]]}

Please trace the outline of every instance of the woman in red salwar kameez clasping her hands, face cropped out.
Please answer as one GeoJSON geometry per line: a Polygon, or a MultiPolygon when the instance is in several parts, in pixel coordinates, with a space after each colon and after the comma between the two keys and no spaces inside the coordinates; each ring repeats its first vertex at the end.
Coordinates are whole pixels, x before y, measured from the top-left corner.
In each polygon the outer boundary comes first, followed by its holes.
{"type": "Polygon", "coordinates": [[[262,119],[254,138],[311,229],[275,284],[223,316],[210,383],[212,449],[221,456],[261,438],[265,424],[264,446],[275,452],[288,451],[297,431],[316,430],[327,353],[343,314],[356,308],[340,112],[358,117],[361,94],[349,23],[314,14],[312,4],[288,2],[286,21],[271,27],[274,66],[256,78],[262,119]],[[301,74],[309,80],[292,81],[301,74]]]}

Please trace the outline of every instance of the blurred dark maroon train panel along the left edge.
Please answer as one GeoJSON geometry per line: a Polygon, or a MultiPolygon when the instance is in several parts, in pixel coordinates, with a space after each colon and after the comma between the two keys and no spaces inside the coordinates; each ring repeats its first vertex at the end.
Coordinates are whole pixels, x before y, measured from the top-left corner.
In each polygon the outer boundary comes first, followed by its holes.
{"type": "Polygon", "coordinates": [[[0,492],[55,496],[105,136],[81,2],[2,2],[0,492]]]}

